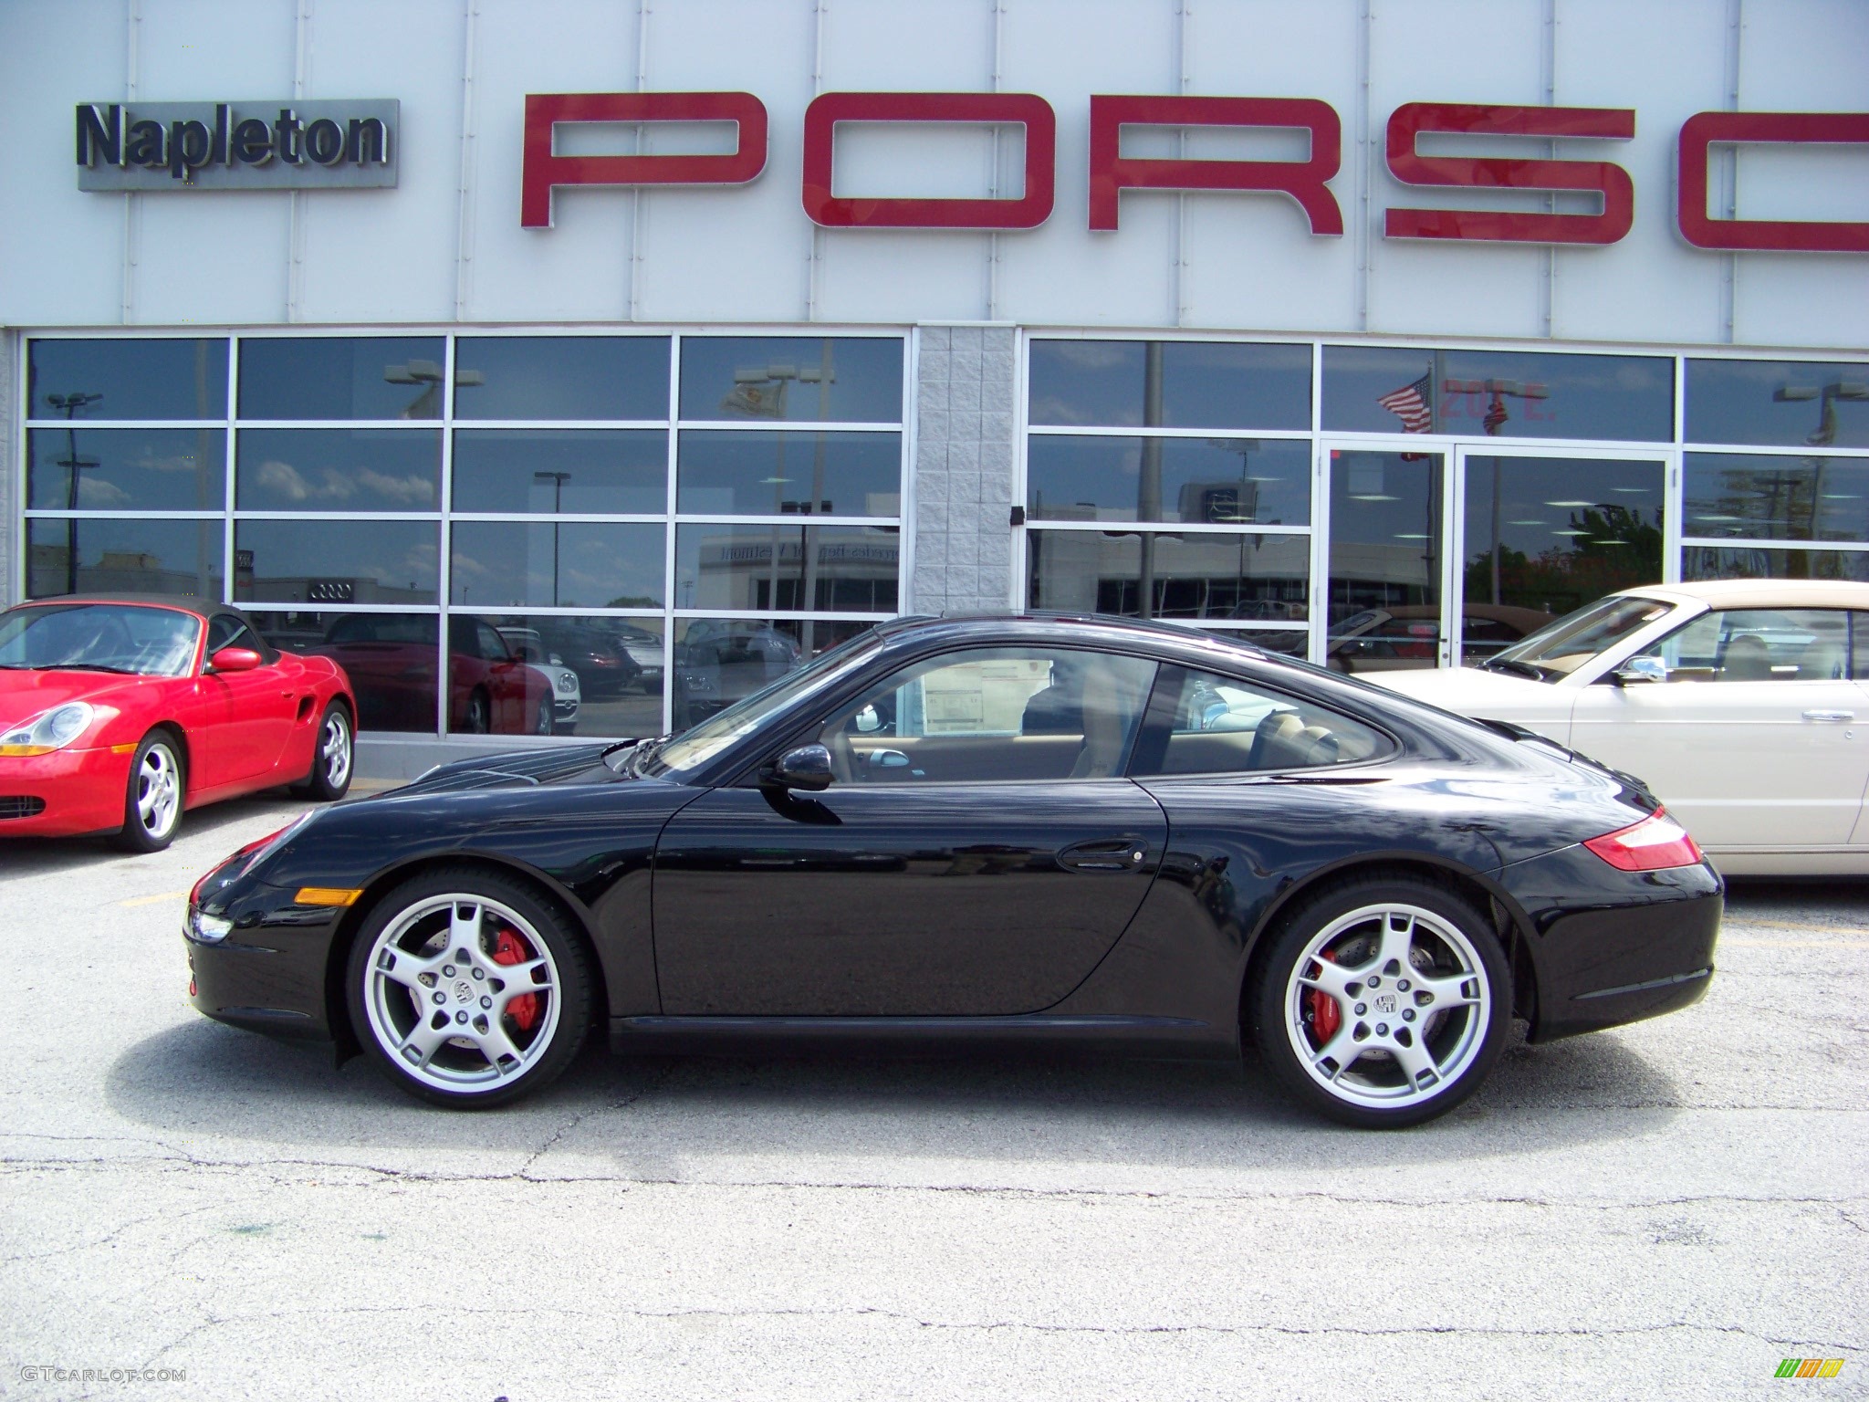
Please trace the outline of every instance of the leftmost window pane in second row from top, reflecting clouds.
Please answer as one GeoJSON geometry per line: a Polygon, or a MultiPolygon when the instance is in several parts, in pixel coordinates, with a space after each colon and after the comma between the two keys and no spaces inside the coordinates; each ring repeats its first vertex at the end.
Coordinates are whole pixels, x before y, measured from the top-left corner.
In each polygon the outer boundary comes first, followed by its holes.
{"type": "Polygon", "coordinates": [[[34,428],[26,501],[39,510],[221,510],[224,428],[34,428]]]}

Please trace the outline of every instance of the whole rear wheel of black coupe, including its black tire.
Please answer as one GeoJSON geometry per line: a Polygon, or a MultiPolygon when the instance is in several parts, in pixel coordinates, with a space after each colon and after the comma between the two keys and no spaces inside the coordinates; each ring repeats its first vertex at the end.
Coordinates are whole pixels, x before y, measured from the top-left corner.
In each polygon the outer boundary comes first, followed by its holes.
{"type": "Polygon", "coordinates": [[[1400,1129],[1452,1110],[1499,1060],[1512,976],[1491,923],[1447,886],[1336,884],[1267,938],[1247,1015],[1260,1058],[1299,1103],[1400,1129]],[[1333,1041],[1348,1060],[1327,1051],[1333,1041]]]}

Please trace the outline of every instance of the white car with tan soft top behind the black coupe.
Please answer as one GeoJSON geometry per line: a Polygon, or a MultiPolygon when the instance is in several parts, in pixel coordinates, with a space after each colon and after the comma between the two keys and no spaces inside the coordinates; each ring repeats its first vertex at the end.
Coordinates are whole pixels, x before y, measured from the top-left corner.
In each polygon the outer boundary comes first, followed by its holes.
{"type": "Polygon", "coordinates": [[[1727,875],[1869,873],[1869,585],[1624,589],[1478,667],[1364,680],[1635,774],[1727,875]]]}

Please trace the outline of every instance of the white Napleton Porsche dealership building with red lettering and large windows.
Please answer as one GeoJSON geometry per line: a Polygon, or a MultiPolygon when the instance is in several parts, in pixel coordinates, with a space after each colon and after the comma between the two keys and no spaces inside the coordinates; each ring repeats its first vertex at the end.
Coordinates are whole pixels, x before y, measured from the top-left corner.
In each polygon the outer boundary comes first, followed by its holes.
{"type": "Polygon", "coordinates": [[[906,611],[1364,669],[1869,579],[1865,73],[1860,0],[19,0],[0,589],[234,600],[394,774],[546,652],[607,737],[906,611]]]}

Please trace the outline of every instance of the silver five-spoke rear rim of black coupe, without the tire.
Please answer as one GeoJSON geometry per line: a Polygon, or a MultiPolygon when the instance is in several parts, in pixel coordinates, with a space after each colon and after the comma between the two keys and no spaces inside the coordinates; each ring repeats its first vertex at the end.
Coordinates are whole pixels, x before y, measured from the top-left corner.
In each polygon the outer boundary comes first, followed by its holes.
{"type": "Polygon", "coordinates": [[[1419,905],[1368,905],[1306,944],[1286,981],[1299,1066],[1346,1105],[1400,1109],[1450,1090],[1480,1056],[1493,991],[1473,940],[1419,905]],[[1320,1037],[1316,994],[1338,1026],[1320,1037]]]}

